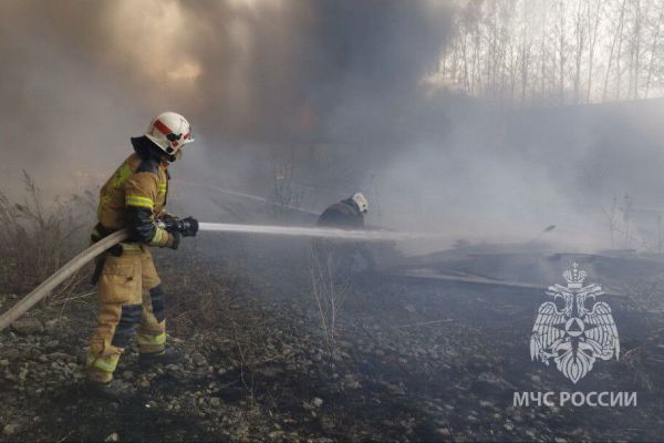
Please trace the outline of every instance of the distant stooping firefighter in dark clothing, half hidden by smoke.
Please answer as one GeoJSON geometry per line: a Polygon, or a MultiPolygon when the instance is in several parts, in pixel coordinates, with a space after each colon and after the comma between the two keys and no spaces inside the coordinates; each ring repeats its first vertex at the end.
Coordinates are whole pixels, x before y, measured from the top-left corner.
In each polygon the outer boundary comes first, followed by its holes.
{"type": "MultiPolygon", "coordinates": [[[[369,210],[369,202],[362,193],[338,202],[320,215],[317,225],[339,229],[364,229],[364,214],[369,210]]],[[[375,270],[376,262],[366,244],[344,240],[318,240],[313,245],[319,260],[336,274],[347,275],[360,256],[367,271],[375,270]]]]}

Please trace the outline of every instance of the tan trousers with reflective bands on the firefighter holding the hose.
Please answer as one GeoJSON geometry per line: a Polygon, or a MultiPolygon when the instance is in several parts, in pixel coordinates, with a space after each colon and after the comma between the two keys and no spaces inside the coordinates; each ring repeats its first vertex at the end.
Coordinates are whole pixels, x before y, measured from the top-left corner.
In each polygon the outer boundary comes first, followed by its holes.
{"type": "Polygon", "coordinates": [[[98,281],[100,313],[90,340],[87,377],[110,382],[132,337],[138,352],[160,352],[166,342],[164,291],[147,247],[123,244],[108,254],[98,281]]]}

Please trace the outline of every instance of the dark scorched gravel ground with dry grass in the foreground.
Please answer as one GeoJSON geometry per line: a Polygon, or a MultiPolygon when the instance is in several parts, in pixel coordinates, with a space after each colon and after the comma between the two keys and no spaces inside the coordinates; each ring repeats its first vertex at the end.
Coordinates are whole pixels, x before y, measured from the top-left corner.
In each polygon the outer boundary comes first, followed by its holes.
{"type": "MultiPolygon", "coordinates": [[[[304,272],[264,257],[249,281],[205,257],[188,262],[188,275],[159,262],[186,359],[144,371],[129,347],[117,375],[136,388],[131,401],[84,390],[94,296],[40,306],[0,333],[0,440],[657,441],[664,431],[664,319],[624,300],[606,301],[622,356],[634,351],[573,385],[530,361],[537,291],[364,276],[330,341],[304,272]],[[637,391],[639,403],[515,408],[515,391],[637,391]]],[[[0,295],[0,309],[17,299],[0,295]]]]}

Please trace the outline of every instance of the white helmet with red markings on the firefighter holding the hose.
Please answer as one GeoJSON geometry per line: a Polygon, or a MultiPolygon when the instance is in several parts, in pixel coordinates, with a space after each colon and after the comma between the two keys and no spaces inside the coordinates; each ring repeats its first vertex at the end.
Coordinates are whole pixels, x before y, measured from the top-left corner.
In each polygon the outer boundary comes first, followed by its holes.
{"type": "Polygon", "coordinates": [[[147,127],[145,136],[173,159],[179,158],[180,150],[187,143],[194,142],[189,122],[175,112],[163,112],[157,115],[147,127]]]}

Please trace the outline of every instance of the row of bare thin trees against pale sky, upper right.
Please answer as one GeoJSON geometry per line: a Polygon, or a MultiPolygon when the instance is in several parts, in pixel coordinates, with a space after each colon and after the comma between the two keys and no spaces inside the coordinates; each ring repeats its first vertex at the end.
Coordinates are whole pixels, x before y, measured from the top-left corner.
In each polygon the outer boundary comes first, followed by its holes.
{"type": "Polygon", "coordinates": [[[664,0],[469,0],[432,75],[521,105],[664,95],[664,0]]]}

